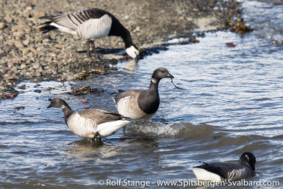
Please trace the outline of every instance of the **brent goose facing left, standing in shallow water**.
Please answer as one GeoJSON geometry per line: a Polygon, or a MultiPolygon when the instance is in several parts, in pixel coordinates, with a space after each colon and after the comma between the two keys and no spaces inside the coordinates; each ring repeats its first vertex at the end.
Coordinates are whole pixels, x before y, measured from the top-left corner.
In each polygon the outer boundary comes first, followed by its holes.
{"type": "Polygon", "coordinates": [[[47,108],[61,108],[64,112],[65,123],[71,131],[79,137],[91,139],[97,143],[97,139],[113,135],[123,126],[130,123],[127,118],[109,113],[100,109],[86,109],[74,112],[61,98],[54,98],[47,108]]]}

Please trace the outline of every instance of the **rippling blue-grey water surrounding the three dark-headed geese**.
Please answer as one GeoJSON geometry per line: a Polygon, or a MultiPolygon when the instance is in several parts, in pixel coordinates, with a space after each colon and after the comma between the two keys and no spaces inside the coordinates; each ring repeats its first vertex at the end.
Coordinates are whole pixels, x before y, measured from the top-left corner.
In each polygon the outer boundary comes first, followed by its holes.
{"type": "MultiPolygon", "coordinates": [[[[118,188],[135,188],[128,181],[140,182],[136,188],[142,188],[142,181],[150,188],[164,188],[158,181],[176,181],[179,186],[169,188],[183,188],[182,182],[196,181],[190,168],[200,165],[198,161],[237,162],[246,151],[257,158],[256,171],[246,181],[282,185],[283,47],[255,33],[206,33],[198,39],[200,43],[171,45],[138,65],[120,63],[119,71],[107,76],[42,82],[37,87],[41,93],[34,92],[36,83],[20,83],[29,86],[23,94],[0,102],[0,187],[99,188],[100,180],[107,187],[108,180],[119,185],[122,179],[118,188]],[[166,67],[174,83],[186,90],[162,79],[160,107],[150,122],[131,124],[104,138],[102,146],[75,136],[60,109],[46,109],[48,98],[60,97],[75,111],[117,112],[110,93],[148,88],[158,67],[166,67]],[[84,85],[105,92],[81,97],[64,93],[84,85]]],[[[218,188],[233,188],[228,185],[218,188]]]]}

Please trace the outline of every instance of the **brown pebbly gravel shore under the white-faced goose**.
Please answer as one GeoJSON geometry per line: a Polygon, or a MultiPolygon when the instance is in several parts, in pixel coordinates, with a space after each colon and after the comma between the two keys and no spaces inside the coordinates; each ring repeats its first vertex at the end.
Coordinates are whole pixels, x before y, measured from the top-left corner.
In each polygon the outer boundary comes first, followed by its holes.
{"type": "Polygon", "coordinates": [[[39,24],[46,20],[38,18],[55,10],[107,10],[130,30],[141,52],[146,52],[163,47],[171,38],[188,37],[188,42],[197,42],[192,36],[196,31],[237,30],[239,6],[234,0],[2,0],[0,99],[16,96],[13,86],[22,80],[86,79],[115,70],[116,59],[127,59],[120,37],[95,40],[98,53],[112,59],[98,61],[87,56],[86,41],[78,36],[39,31],[39,24]]]}

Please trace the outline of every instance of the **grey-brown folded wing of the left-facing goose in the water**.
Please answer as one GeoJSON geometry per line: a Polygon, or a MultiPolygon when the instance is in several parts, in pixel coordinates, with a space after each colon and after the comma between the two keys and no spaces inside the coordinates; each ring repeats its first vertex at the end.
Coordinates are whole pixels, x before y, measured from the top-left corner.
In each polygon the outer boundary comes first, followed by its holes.
{"type": "Polygon", "coordinates": [[[105,110],[100,109],[86,109],[77,112],[81,117],[86,119],[91,119],[96,122],[98,125],[110,121],[121,120],[123,117],[120,114],[109,113],[105,110]]]}

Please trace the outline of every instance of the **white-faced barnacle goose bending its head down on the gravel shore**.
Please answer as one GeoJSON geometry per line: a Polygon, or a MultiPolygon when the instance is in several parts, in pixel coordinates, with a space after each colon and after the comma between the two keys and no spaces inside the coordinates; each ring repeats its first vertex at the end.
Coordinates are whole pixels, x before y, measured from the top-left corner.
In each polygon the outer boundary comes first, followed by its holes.
{"type": "Polygon", "coordinates": [[[74,12],[53,12],[50,16],[42,16],[38,19],[50,19],[42,24],[40,30],[48,32],[56,29],[61,32],[78,35],[87,40],[87,54],[90,57],[90,43],[96,58],[94,39],[106,36],[120,36],[123,38],[126,52],[133,58],[138,58],[140,51],[133,43],[130,31],[126,29],[119,20],[111,13],[98,8],[83,8],[74,12]]]}

